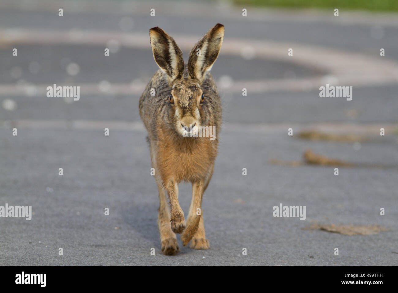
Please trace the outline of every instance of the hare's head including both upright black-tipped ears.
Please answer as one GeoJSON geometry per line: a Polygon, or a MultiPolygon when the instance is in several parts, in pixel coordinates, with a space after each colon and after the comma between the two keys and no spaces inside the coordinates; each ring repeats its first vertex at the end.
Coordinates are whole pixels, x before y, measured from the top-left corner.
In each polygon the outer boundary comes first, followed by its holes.
{"type": "Polygon", "coordinates": [[[184,78],[184,61],[176,41],[161,28],[150,29],[154,59],[170,86],[170,91],[162,97],[167,102],[165,126],[182,136],[196,132],[200,126],[212,126],[209,124],[213,122],[214,100],[210,95],[217,91],[208,91],[202,84],[219,55],[223,39],[224,26],[216,24],[193,47],[187,63],[188,75],[184,78]]]}

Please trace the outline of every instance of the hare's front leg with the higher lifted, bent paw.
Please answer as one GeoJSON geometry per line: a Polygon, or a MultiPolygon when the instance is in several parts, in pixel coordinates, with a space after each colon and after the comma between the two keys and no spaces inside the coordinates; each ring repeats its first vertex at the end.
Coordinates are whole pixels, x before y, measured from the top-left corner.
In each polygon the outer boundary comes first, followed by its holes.
{"type": "Polygon", "coordinates": [[[184,212],[178,203],[178,185],[174,180],[170,180],[166,186],[166,189],[171,206],[171,228],[174,233],[182,233],[185,229],[185,218],[184,212]]]}

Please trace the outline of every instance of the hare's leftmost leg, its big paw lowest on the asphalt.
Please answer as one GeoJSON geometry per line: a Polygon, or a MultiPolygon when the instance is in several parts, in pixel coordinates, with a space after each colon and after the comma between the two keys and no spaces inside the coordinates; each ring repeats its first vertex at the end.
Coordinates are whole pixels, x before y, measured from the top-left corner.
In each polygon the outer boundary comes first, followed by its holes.
{"type": "Polygon", "coordinates": [[[158,227],[162,252],[166,256],[172,256],[179,252],[177,236],[174,234],[170,226],[170,212],[167,205],[166,192],[161,185],[158,185],[158,189],[160,199],[158,227]]]}

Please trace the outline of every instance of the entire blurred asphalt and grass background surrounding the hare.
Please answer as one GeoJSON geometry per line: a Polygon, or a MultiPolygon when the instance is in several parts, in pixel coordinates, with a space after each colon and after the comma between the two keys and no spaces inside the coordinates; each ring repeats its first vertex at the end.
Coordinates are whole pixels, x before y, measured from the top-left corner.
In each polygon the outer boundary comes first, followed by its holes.
{"type": "MultiPolygon", "coordinates": [[[[138,111],[158,69],[148,32],[167,31],[186,62],[217,23],[224,124],[203,200],[211,250],[180,244],[178,263],[396,264],[397,10],[389,0],[0,1],[0,205],[34,213],[0,219],[0,264],[176,264],[160,252],[138,111]],[[327,83],[352,86],[353,99],[321,98],[327,83]],[[80,100],[48,98],[53,84],[79,86],[80,100]],[[305,205],[306,220],[274,218],[279,203],[305,205]],[[312,224],[389,231],[303,230],[312,224]]],[[[181,185],[185,213],[190,198],[181,185]]]]}

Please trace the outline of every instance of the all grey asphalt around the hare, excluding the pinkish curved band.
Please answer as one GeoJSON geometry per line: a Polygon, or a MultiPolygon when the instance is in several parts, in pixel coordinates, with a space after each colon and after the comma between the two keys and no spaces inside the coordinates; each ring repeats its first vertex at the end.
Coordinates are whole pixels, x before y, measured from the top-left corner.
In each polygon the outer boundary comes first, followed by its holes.
{"type": "MultiPolygon", "coordinates": [[[[83,11],[60,20],[47,10],[3,8],[0,29],[118,31],[121,17],[83,11]]],[[[375,30],[380,37],[380,29],[373,22],[344,26],[323,20],[238,22],[222,14],[220,18],[228,34],[242,40],[293,41],[366,54],[380,47],[374,38],[375,30]]],[[[221,20],[199,15],[153,19],[139,14],[134,16],[134,31],[146,33],[158,25],[171,35],[202,35],[213,22],[221,20]]],[[[389,58],[396,60],[398,26],[382,30],[381,42],[391,52],[389,58]]],[[[221,91],[225,123],[215,173],[203,199],[211,249],[183,247],[178,236],[181,253],[170,257],[160,251],[158,194],[150,175],[146,133],[140,126],[140,92],[83,94],[72,103],[41,94],[2,92],[3,86],[21,79],[40,85],[145,83],[157,70],[149,47],[121,47],[109,58],[98,57],[103,46],[96,45],[21,44],[18,58],[12,57],[10,48],[0,42],[0,205],[31,205],[33,215],[30,221],[0,218],[0,265],[398,264],[398,140],[394,133],[377,132],[397,124],[398,84],[355,87],[351,102],[321,99],[318,90],[281,89],[248,96],[221,91]],[[32,61],[41,63],[39,72],[29,71],[32,61]],[[68,75],[68,62],[80,66],[78,75],[68,75]],[[14,67],[22,69],[17,79],[10,75],[14,67]],[[6,99],[16,102],[15,110],[3,105],[6,99]],[[24,124],[26,120],[31,125],[24,124]],[[107,123],[110,135],[104,136],[107,123]],[[287,135],[290,125],[297,134],[318,123],[333,124],[335,131],[371,125],[365,134],[372,140],[309,142],[287,135]],[[18,136],[12,136],[14,126],[18,136]],[[340,167],[339,176],[334,176],[332,166],[270,163],[300,161],[308,148],[359,167],[340,167]],[[59,168],[63,176],[58,175],[59,168]],[[247,168],[247,176],[242,168],[247,168]],[[306,206],[306,220],[273,217],[273,206],[280,203],[306,206]],[[385,208],[384,216],[380,208],[385,208]],[[304,230],[314,223],[380,225],[388,231],[345,236],[304,230]],[[243,248],[247,255],[242,255],[243,248]]],[[[217,80],[228,76],[233,81],[286,79],[292,72],[297,78],[327,74],[272,58],[246,60],[232,55],[220,55],[212,69],[217,80]]],[[[185,214],[190,200],[190,186],[181,184],[179,202],[185,214]]]]}

